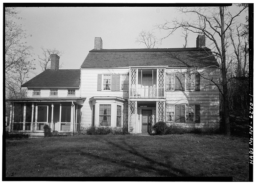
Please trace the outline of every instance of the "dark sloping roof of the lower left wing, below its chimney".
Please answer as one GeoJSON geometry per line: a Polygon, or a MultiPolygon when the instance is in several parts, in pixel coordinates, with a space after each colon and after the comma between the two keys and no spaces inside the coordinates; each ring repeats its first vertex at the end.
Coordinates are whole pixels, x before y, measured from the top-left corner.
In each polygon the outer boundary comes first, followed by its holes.
{"type": "Polygon", "coordinates": [[[45,70],[22,87],[79,87],[80,69],[45,70]]]}

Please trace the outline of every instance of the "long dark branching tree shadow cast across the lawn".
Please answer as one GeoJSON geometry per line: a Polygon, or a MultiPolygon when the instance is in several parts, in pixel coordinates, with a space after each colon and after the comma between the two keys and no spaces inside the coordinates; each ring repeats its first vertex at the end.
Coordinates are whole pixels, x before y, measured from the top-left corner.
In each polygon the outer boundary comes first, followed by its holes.
{"type": "MultiPolygon", "coordinates": [[[[125,166],[134,171],[135,170],[141,171],[140,173],[138,172],[138,174],[137,174],[138,176],[142,176],[141,175],[142,173],[145,173],[146,175],[149,175],[149,176],[150,176],[150,173],[154,174],[152,176],[172,176],[172,177],[174,177],[174,176],[185,176],[185,177],[191,176],[186,171],[184,171],[182,169],[178,169],[176,167],[173,167],[171,165],[172,163],[170,161],[168,161],[168,163],[162,163],[162,162],[154,160],[154,158],[152,158],[152,157],[148,157],[148,156],[138,152],[134,147],[128,145],[124,140],[120,144],[116,144],[113,142],[107,142],[107,143],[122,150],[122,152],[124,152],[124,153],[130,153],[132,155],[140,157],[140,158],[148,161],[148,163],[146,163],[146,162],[137,163],[132,160],[124,160],[124,159],[117,160],[117,159],[115,159],[115,157],[113,157],[113,158],[102,157],[100,155],[83,152],[81,149],[79,149],[78,151],[79,151],[80,155],[92,157],[97,160],[100,159],[105,162],[108,161],[110,163],[119,165],[119,167],[125,166]]],[[[118,176],[118,174],[116,172],[112,172],[112,173],[105,173],[102,176],[118,176]]],[[[136,176],[136,175],[133,174],[131,176],[136,176]]]]}

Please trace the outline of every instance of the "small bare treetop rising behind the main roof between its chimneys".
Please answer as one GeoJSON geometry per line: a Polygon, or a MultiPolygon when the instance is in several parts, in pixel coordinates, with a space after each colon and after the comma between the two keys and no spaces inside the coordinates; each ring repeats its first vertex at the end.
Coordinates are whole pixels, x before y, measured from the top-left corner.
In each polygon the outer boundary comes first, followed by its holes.
{"type": "Polygon", "coordinates": [[[156,36],[154,35],[153,31],[144,31],[142,30],[138,37],[136,38],[136,43],[143,43],[146,48],[154,48],[154,46],[156,45],[157,41],[156,41],[156,36]]]}

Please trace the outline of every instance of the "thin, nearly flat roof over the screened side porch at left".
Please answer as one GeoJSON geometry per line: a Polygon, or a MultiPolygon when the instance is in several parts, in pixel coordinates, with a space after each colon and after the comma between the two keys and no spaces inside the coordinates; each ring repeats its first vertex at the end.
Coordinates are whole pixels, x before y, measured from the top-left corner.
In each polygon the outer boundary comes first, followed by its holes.
{"type": "Polygon", "coordinates": [[[30,97],[30,98],[14,98],[14,99],[6,99],[12,102],[74,102],[85,100],[86,97],[30,97]]]}

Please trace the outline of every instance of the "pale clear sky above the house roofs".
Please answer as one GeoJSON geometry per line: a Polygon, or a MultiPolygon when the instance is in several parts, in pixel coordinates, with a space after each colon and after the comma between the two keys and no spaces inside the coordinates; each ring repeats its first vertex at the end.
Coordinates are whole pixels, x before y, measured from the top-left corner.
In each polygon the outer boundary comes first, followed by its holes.
{"type": "MultiPolygon", "coordinates": [[[[63,52],[61,69],[79,69],[94,49],[94,37],[102,38],[103,49],[144,48],[135,42],[140,31],[152,30],[157,24],[180,16],[174,7],[20,7],[17,10],[23,18],[19,23],[32,35],[26,41],[33,47],[35,74],[42,72],[38,64],[40,47],[63,52]]],[[[167,35],[167,31],[153,31],[158,38],[167,35]]],[[[196,37],[196,33],[189,34],[187,47],[196,47],[196,37]]],[[[181,31],[177,31],[158,47],[182,47],[183,44],[181,31]]]]}

